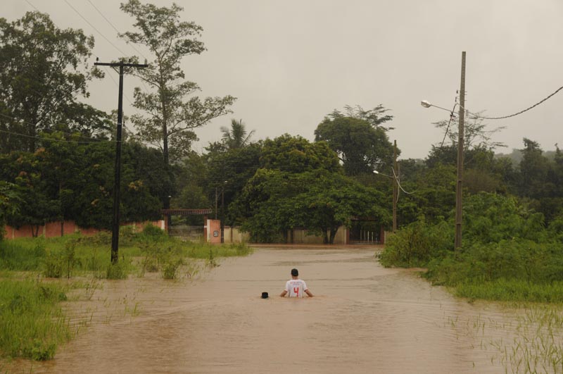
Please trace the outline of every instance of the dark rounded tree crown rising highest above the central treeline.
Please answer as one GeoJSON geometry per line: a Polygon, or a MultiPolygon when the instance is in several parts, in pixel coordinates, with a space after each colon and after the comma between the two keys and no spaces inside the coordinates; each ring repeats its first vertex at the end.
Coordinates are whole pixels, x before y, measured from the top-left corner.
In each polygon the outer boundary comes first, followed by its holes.
{"type": "MultiPolygon", "coordinates": [[[[366,116],[345,116],[334,111],[325,117],[315,130],[315,141],[325,141],[336,151],[343,163],[346,175],[372,173],[377,168],[392,166],[393,145],[381,123],[391,116],[368,120],[366,116]]],[[[400,151],[398,151],[400,154],[400,151]]]]}

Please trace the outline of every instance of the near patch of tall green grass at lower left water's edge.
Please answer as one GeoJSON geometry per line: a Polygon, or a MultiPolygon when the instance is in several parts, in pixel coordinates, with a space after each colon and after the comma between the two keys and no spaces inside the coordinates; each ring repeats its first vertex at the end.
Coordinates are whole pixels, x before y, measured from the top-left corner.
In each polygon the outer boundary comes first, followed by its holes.
{"type": "Polygon", "coordinates": [[[72,334],[59,302],[60,285],[34,280],[0,280],[0,355],[48,360],[72,334]]]}

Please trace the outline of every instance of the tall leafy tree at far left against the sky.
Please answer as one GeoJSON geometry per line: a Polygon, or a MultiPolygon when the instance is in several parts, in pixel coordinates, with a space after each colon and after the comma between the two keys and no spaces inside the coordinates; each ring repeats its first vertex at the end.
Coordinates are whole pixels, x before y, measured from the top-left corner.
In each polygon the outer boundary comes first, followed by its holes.
{"type": "Polygon", "coordinates": [[[58,29],[45,13],[0,18],[0,152],[33,152],[51,130],[106,134],[107,114],[79,102],[100,75],[85,71],[93,47],[93,37],[58,29]]]}

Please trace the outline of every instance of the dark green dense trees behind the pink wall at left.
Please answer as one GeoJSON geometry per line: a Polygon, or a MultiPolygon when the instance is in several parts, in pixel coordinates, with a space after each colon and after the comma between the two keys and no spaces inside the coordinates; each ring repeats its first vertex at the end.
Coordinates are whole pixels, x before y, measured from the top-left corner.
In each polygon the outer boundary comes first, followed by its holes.
{"type": "MultiPolygon", "coordinates": [[[[61,134],[44,135],[45,148],[0,155],[0,177],[17,185],[21,204],[6,215],[10,225],[75,220],[81,227],[110,228],[113,218],[114,163],[111,142],[74,144],[61,134]]],[[[124,144],[121,218],[125,222],[160,218],[162,155],[140,144],[124,144]]]]}

